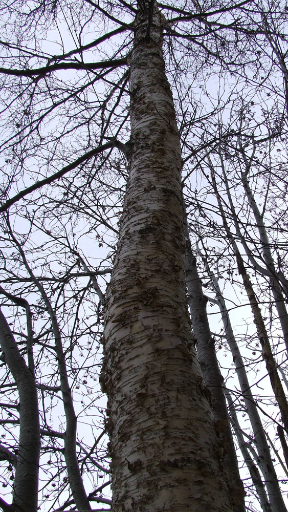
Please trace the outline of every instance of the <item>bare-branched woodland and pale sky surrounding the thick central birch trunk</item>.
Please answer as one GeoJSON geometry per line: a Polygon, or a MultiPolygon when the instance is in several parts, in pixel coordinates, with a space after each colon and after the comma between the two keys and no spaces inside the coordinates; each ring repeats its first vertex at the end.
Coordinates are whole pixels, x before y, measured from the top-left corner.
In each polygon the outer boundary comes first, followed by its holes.
{"type": "MultiPolygon", "coordinates": [[[[157,5],[181,137],[187,258],[198,272],[187,265],[196,347],[201,359],[207,308],[246,508],[276,512],[263,466],[273,464],[286,497],[288,5],[157,5]]],[[[38,408],[40,509],[77,509],[70,453],[93,510],[110,510],[101,336],[133,143],[129,55],[145,6],[153,2],[0,3],[1,326],[22,374],[35,376],[21,391],[2,345],[4,512],[21,392],[38,408]]]]}

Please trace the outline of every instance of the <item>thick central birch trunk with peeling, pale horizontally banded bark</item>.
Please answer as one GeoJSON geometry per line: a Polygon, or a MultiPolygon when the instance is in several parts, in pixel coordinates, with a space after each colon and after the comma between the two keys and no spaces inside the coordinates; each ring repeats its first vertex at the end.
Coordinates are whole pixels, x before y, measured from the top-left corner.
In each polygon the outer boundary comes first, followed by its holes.
{"type": "Polygon", "coordinates": [[[130,174],[103,337],[113,510],[231,512],[186,304],[165,20],[158,10],[151,19],[152,3],[141,5],[131,52],[130,174]]]}

